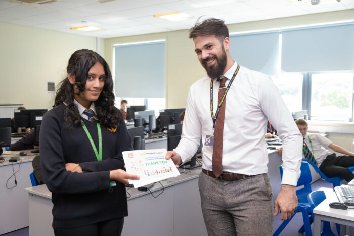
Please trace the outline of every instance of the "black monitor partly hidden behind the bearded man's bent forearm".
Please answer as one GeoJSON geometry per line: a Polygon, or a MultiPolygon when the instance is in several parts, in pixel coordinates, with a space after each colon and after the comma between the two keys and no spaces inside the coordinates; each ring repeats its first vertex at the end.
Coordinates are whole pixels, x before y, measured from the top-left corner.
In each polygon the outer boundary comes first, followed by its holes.
{"type": "MultiPolygon", "coordinates": [[[[181,140],[181,135],[182,135],[182,124],[171,124],[168,125],[167,129],[167,150],[172,151],[175,149],[178,144],[180,143],[181,140]]],[[[200,141],[201,143],[201,141],[200,141]]],[[[199,154],[201,152],[202,145],[199,146],[198,151],[196,154],[199,154]]],[[[185,163],[181,168],[185,169],[194,169],[197,167],[200,167],[201,164],[197,164],[197,156],[196,154],[192,157],[192,159],[189,161],[189,163],[185,163]]]]}

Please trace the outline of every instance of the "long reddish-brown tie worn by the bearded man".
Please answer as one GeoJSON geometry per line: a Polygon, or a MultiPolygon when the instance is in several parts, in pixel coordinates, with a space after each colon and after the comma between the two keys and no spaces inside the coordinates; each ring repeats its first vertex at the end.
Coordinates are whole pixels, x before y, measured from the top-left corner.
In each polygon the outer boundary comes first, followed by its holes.
{"type": "MultiPolygon", "coordinates": [[[[218,103],[220,103],[221,98],[226,90],[225,82],[227,78],[223,77],[219,79],[220,88],[218,95],[218,103]]],[[[219,114],[217,115],[215,130],[214,130],[214,148],[212,152],[212,171],[216,178],[218,178],[222,170],[222,157],[223,157],[223,132],[224,132],[224,119],[225,119],[225,104],[226,97],[224,99],[223,105],[220,108],[219,114]]]]}

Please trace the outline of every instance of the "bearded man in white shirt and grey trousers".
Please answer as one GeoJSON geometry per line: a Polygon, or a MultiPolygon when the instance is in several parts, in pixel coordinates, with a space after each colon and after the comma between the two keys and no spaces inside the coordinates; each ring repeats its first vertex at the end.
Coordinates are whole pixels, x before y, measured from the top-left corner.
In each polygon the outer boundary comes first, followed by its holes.
{"type": "Polygon", "coordinates": [[[182,138],[166,159],[176,165],[187,162],[202,136],[199,192],[208,234],[271,235],[273,195],[264,139],[267,119],[283,140],[283,179],[274,207],[274,215],[280,210],[282,220],[289,219],[297,207],[301,134],[270,77],[232,60],[224,21],[197,22],[189,37],[208,76],[189,89],[182,138]]]}

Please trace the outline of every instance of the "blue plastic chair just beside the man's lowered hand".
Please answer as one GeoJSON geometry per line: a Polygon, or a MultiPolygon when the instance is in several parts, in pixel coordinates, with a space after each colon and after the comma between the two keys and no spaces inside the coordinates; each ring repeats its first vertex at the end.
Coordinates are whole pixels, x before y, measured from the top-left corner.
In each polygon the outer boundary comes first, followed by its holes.
{"type": "MultiPolygon", "coordinates": [[[[280,169],[280,176],[283,177],[282,166],[280,166],[279,169],[280,169]]],[[[313,219],[311,217],[311,206],[307,200],[307,195],[312,192],[311,185],[310,185],[311,181],[312,181],[311,171],[309,169],[308,164],[306,162],[301,162],[301,175],[299,180],[297,181],[296,186],[297,187],[303,186],[303,188],[296,190],[296,196],[299,199],[297,208],[294,212],[294,215],[292,215],[290,219],[285,220],[278,227],[278,229],[273,233],[273,236],[279,235],[297,212],[302,213],[302,219],[303,219],[303,226],[300,228],[299,232],[303,231],[304,229],[306,236],[312,236],[310,225],[313,222],[313,219]]]]}

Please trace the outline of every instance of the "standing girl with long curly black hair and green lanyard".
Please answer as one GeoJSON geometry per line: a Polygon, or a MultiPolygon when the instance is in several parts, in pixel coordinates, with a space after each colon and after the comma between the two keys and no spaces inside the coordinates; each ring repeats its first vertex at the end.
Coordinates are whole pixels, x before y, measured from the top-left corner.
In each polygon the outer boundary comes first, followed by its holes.
{"type": "Polygon", "coordinates": [[[122,152],[132,150],[131,138],[114,106],[107,62],[92,50],[74,52],[53,107],[43,116],[39,143],[54,234],[120,235],[124,183],[139,176],[124,171],[122,152]]]}

